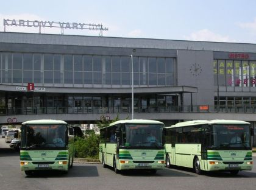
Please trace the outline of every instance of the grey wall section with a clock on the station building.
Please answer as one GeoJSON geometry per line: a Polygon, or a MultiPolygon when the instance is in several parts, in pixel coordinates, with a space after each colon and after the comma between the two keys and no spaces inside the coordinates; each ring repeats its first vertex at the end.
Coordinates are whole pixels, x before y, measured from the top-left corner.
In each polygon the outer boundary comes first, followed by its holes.
{"type": "Polygon", "coordinates": [[[213,105],[213,52],[179,50],[177,55],[177,85],[197,88],[197,93],[184,95],[183,104],[213,105]]]}

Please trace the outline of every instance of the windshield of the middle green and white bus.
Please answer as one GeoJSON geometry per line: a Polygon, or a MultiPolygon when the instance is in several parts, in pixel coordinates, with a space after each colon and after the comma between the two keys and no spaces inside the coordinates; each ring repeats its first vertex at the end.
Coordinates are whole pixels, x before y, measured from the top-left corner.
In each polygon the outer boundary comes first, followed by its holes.
{"type": "Polygon", "coordinates": [[[126,124],[124,144],[127,147],[162,147],[162,124],[126,124]]]}

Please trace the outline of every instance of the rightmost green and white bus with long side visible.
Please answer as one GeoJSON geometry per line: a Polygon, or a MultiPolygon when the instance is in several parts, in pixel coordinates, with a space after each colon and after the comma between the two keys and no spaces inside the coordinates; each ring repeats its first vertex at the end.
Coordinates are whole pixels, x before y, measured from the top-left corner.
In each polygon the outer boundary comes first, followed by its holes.
{"type": "Polygon", "coordinates": [[[251,171],[253,166],[249,122],[196,120],[165,127],[166,166],[201,171],[251,171]],[[235,139],[235,140],[234,140],[235,139]]]}

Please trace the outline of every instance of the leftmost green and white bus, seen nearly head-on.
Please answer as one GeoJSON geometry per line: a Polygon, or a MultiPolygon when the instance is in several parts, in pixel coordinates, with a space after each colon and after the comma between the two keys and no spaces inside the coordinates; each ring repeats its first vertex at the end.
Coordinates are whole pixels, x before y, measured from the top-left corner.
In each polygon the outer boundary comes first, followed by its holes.
{"type": "Polygon", "coordinates": [[[65,121],[41,119],[22,123],[21,171],[27,175],[36,170],[68,172],[73,160],[73,128],[65,121]]]}

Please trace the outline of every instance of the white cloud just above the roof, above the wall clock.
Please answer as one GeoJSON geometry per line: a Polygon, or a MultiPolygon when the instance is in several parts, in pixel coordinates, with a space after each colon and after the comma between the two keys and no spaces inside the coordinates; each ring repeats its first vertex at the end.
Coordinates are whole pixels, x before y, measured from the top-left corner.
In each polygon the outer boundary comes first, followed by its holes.
{"type": "Polygon", "coordinates": [[[222,41],[222,42],[235,42],[229,36],[222,36],[218,33],[213,33],[208,29],[198,30],[191,33],[189,36],[184,36],[185,40],[193,41],[222,41]]]}

